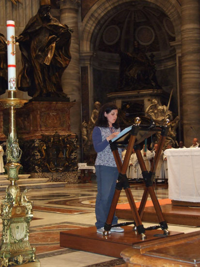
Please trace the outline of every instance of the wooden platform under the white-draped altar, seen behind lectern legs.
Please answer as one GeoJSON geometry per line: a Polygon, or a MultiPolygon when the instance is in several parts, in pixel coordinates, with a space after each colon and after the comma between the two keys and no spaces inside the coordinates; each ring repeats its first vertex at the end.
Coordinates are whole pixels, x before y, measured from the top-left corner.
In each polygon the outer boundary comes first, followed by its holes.
{"type": "MultiPolygon", "coordinates": [[[[161,205],[161,210],[167,223],[200,226],[200,208],[167,204],[161,205]]],[[[122,219],[133,220],[130,209],[116,209],[116,216],[122,219]]],[[[158,222],[154,207],[146,207],[141,219],[146,222],[158,222]]]]}

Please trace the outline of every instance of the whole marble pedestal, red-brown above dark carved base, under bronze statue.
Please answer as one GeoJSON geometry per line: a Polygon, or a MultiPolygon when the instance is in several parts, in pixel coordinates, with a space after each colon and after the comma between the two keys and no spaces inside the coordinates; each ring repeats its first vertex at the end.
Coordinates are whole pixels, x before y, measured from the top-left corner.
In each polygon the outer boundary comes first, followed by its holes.
{"type": "Polygon", "coordinates": [[[77,135],[70,131],[74,102],[36,102],[16,112],[21,164],[31,177],[77,183],[77,135]]]}

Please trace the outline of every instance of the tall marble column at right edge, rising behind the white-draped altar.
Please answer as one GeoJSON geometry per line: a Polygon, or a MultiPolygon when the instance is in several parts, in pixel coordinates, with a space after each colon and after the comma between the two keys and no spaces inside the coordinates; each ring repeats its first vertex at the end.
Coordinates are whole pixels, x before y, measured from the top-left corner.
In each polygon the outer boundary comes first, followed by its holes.
{"type": "Polygon", "coordinates": [[[200,2],[182,0],[182,107],[185,146],[200,138],[200,2]],[[191,128],[192,127],[192,128],[191,128]],[[199,135],[199,136],[198,136],[199,135]]]}

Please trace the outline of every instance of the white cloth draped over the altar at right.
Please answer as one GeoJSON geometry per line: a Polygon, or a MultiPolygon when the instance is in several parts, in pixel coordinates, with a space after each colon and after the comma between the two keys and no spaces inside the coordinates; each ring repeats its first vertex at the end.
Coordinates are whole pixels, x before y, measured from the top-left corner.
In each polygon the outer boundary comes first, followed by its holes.
{"type": "Polygon", "coordinates": [[[168,149],[169,199],[200,202],[200,148],[168,149]]]}

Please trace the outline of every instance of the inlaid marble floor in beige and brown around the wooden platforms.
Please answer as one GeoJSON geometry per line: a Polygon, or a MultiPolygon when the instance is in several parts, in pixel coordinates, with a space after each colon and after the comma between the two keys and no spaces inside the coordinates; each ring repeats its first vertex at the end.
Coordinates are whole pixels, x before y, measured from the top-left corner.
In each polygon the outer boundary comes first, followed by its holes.
{"type": "MultiPolygon", "coordinates": [[[[131,183],[134,200],[140,201],[143,184],[131,183]]],[[[156,186],[158,199],[168,198],[168,186],[156,186]]],[[[30,189],[27,193],[33,201],[34,217],[30,226],[30,243],[36,247],[36,256],[41,267],[111,267],[121,266],[122,259],[116,259],[90,252],[61,248],[60,231],[93,226],[95,223],[95,197],[97,186],[95,180],[87,184],[68,184],[65,187],[30,189]]],[[[0,198],[5,195],[0,192],[0,198]]],[[[122,190],[118,203],[127,203],[122,190]]],[[[123,220],[119,220],[123,222],[123,220]]],[[[144,227],[155,223],[142,222],[144,227]]],[[[0,231],[2,222],[0,223],[0,231]]],[[[169,231],[194,232],[198,227],[169,224],[169,231]]]]}

